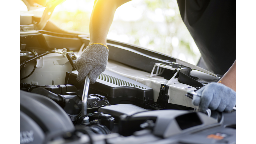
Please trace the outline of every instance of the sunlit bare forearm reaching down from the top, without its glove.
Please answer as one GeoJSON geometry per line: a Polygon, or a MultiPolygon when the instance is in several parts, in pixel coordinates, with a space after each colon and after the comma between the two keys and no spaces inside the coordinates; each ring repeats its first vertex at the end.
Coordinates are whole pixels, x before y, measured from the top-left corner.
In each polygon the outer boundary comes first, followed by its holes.
{"type": "Polygon", "coordinates": [[[131,0],[95,0],[90,18],[90,44],[107,45],[107,34],[116,9],[131,0]]]}

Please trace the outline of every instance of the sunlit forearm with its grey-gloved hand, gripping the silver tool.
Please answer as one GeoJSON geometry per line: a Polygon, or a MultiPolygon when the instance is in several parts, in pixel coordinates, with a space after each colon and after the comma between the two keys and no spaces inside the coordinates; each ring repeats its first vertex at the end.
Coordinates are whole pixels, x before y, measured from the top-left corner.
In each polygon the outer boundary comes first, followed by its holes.
{"type": "Polygon", "coordinates": [[[77,58],[74,67],[78,71],[76,80],[84,83],[88,75],[94,83],[105,71],[108,61],[107,34],[116,9],[130,0],[95,0],[90,18],[90,44],[77,58]]]}

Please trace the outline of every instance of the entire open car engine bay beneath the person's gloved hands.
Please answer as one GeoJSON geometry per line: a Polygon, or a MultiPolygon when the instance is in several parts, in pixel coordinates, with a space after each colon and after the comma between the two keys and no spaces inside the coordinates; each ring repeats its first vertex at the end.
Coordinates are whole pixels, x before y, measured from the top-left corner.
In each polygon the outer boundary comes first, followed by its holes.
{"type": "Polygon", "coordinates": [[[89,38],[33,30],[20,31],[20,42],[20,143],[235,142],[236,111],[197,112],[188,93],[215,74],[108,40],[107,69],[89,85],[83,115],[73,64],[89,38]]]}

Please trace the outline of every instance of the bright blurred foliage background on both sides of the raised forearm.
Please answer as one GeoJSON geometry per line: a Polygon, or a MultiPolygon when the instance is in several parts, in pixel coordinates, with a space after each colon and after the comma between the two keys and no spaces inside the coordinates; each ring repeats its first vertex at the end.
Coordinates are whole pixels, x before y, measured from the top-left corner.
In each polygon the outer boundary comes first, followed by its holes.
{"type": "MultiPolygon", "coordinates": [[[[76,0],[80,2],[81,0],[76,0]]],[[[70,0],[66,2],[70,3],[70,0]]],[[[93,0],[87,8],[65,8],[51,19],[63,29],[89,33],[93,0]],[[88,8],[89,7],[89,8],[88,8]]],[[[85,2],[85,1],[83,1],[85,2]]],[[[183,23],[176,0],[132,0],[115,13],[107,38],[139,45],[196,64],[201,54],[183,23]]]]}

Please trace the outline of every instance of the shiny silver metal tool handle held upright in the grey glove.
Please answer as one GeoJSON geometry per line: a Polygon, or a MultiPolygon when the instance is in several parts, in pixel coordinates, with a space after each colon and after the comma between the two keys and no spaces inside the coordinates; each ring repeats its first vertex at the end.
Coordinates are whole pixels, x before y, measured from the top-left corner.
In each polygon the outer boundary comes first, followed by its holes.
{"type": "Polygon", "coordinates": [[[82,117],[87,114],[87,98],[88,98],[89,84],[90,84],[90,79],[89,79],[89,76],[87,75],[85,77],[84,90],[82,95],[82,115],[81,115],[82,117]]]}

